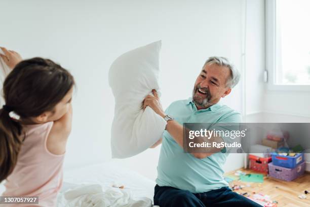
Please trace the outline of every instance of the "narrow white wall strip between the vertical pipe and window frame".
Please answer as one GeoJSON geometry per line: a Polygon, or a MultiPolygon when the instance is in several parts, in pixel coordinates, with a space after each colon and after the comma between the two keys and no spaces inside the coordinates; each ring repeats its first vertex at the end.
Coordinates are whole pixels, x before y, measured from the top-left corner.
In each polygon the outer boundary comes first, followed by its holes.
{"type": "MultiPolygon", "coordinates": [[[[247,0],[246,15],[246,114],[259,112],[263,107],[263,71],[265,69],[264,0],[247,0]]],[[[246,122],[248,120],[246,119],[246,122]]]]}

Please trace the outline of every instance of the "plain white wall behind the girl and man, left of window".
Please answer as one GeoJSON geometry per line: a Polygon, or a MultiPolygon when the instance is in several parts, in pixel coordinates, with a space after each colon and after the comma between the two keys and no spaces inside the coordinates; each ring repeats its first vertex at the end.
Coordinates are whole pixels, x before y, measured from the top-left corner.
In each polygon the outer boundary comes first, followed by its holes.
{"type": "MultiPolygon", "coordinates": [[[[241,68],[244,0],[199,1],[3,1],[1,44],[23,57],[49,57],[76,79],[73,129],[65,168],[111,161],[110,127],[114,101],[107,82],[111,62],[120,54],[162,40],[162,103],[191,95],[207,57],[228,57],[241,68]],[[8,19],[9,18],[9,19],[8,19]]],[[[263,65],[263,1],[248,1],[247,84],[250,111],[260,108],[263,65]],[[250,68],[250,69],[249,69],[250,68]],[[252,86],[252,84],[254,84],[252,86]],[[257,89],[256,96],[251,91],[257,89]],[[253,103],[253,104],[252,104],[253,103]]],[[[126,86],[124,86],[126,87],[126,86]]],[[[242,111],[242,83],[223,100],[242,111]]],[[[156,178],[158,149],[120,162],[156,178]]],[[[243,165],[228,157],[225,170],[243,165]]],[[[238,161],[236,161],[238,160],[238,161]]]]}

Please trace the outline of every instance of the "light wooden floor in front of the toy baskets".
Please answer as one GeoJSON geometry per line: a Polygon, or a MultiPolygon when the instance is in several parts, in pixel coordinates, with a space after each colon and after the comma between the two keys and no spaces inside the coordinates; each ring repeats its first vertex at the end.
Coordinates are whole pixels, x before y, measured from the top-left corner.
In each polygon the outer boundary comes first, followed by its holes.
{"type": "MultiPolygon", "coordinates": [[[[259,172],[252,171],[250,169],[239,169],[241,171],[249,173],[258,174],[259,172]]],[[[237,171],[237,170],[235,170],[237,171]]],[[[235,171],[231,171],[225,175],[234,175],[235,171]]],[[[298,195],[304,194],[304,191],[307,190],[310,192],[310,174],[307,172],[303,176],[293,180],[291,182],[282,181],[270,177],[264,176],[264,182],[259,183],[248,183],[241,181],[232,181],[229,183],[232,185],[244,185],[245,188],[241,190],[235,190],[235,192],[245,193],[253,195],[255,193],[262,193],[264,195],[269,195],[272,200],[278,201],[278,206],[286,207],[303,207],[310,206],[310,194],[307,194],[306,199],[298,198],[298,195]],[[247,187],[250,185],[250,187],[247,187]]]]}

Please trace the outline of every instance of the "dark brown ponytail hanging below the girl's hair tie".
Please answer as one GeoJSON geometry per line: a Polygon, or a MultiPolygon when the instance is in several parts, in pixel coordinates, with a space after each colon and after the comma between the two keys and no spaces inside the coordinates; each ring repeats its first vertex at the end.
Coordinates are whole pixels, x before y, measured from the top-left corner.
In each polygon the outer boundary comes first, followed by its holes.
{"type": "Polygon", "coordinates": [[[22,126],[0,109],[0,183],[13,171],[22,144],[22,126]]]}

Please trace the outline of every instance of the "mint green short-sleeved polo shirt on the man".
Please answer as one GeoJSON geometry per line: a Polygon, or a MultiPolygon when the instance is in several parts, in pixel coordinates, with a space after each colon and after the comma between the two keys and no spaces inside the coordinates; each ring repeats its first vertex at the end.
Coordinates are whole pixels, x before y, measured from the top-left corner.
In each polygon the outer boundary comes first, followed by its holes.
{"type": "MultiPolygon", "coordinates": [[[[171,103],[166,114],[172,116],[180,124],[206,123],[212,128],[216,128],[216,123],[240,123],[242,121],[240,113],[219,103],[198,111],[192,98],[171,103]]],[[[159,186],[171,186],[192,193],[202,193],[228,186],[223,178],[223,165],[228,153],[221,151],[199,159],[190,153],[184,153],[183,148],[174,141],[168,131],[164,131],[162,138],[156,179],[159,186]]]]}

